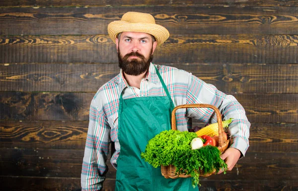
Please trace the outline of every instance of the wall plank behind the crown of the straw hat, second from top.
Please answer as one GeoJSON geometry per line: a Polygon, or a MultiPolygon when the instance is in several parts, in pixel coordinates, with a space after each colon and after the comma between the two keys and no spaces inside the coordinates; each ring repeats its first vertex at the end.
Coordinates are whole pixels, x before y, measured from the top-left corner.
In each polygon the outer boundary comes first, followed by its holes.
{"type": "Polygon", "coordinates": [[[106,35],[107,25],[128,11],[151,13],[172,35],[286,35],[298,30],[296,6],[9,7],[0,11],[0,35],[106,35]]]}

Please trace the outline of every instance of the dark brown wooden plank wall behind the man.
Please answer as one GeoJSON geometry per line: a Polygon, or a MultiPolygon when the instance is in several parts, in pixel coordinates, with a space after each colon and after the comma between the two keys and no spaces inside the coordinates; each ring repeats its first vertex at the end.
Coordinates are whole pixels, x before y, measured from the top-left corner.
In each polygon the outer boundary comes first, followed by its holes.
{"type": "Polygon", "coordinates": [[[1,190],[80,190],[90,101],[119,72],[107,25],[127,11],[169,30],[154,63],[232,94],[252,124],[246,157],[200,191],[298,191],[298,0],[1,0],[1,190]]]}

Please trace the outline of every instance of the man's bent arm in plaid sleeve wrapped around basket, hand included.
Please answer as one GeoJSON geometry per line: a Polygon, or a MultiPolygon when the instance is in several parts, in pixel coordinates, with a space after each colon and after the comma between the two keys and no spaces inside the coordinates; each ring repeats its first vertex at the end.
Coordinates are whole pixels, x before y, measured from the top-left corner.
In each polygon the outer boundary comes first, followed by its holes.
{"type": "MultiPolygon", "coordinates": [[[[214,85],[207,84],[196,76],[189,74],[186,104],[204,103],[211,104],[219,108],[224,119],[233,118],[228,127],[231,138],[231,145],[222,155],[222,158],[229,165],[231,170],[238,161],[239,157],[245,155],[249,142],[250,123],[245,115],[245,110],[241,104],[231,95],[226,95],[219,91],[214,85]]],[[[199,119],[205,123],[215,123],[217,120],[212,109],[198,110],[189,109],[188,116],[199,119]]]]}

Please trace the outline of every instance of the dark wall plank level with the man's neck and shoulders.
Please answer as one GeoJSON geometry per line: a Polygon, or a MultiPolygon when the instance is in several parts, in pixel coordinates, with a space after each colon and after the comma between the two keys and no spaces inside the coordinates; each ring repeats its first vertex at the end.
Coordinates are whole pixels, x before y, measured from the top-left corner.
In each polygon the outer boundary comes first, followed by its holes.
{"type": "MultiPolygon", "coordinates": [[[[225,93],[298,93],[298,64],[167,65],[225,93]]],[[[0,64],[0,71],[0,91],[96,92],[120,69],[118,64],[0,64]]]]}

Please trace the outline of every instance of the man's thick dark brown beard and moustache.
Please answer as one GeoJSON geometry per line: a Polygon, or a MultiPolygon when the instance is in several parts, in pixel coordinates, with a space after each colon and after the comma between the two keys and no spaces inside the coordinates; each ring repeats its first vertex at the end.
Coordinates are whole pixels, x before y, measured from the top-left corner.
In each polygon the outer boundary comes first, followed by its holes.
{"type": "Polygon", "coordinates": [[[146,59],[144,55],[141,55],[138,52],[132,52],[124,57],[121,57],[120,50],[118,47],[118,60],[119,60],[119,67],[128,75],[140,75],[146,72],[150,66],[151,61],[153,60],[153,47],[151,48],[149,58],[146,59]],[[140,59],[129,59],[131,56],[137,56],[140,59]]]}

